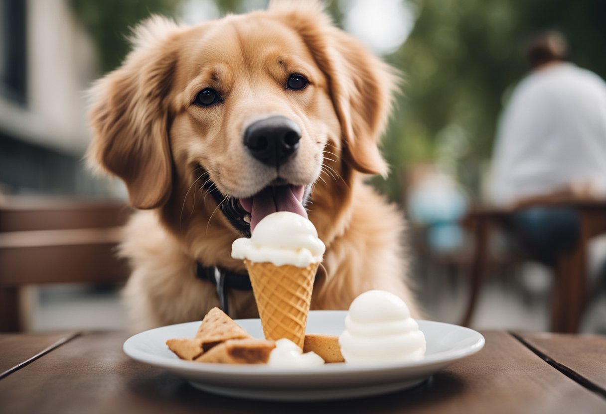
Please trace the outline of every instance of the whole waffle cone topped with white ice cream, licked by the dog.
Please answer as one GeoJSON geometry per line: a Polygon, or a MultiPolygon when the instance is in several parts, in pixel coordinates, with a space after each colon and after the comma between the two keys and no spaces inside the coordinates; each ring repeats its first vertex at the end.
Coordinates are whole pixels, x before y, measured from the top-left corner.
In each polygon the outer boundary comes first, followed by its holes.
{"type": "Polygon", "coordinates": [[[244,260],[265,338],[293,341],[301,349],[316,271],[326,247],[307,218],[290,211],[266,215],[250,238],[231,245],[244,260]]]}

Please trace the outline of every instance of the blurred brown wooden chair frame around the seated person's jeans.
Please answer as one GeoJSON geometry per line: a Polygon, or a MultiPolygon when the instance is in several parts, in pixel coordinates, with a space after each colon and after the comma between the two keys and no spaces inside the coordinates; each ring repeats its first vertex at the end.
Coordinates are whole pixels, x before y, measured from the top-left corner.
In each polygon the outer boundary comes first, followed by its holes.
{"type": "Polygon", "coordinates": [[[484,283],[490,233],[494,229],[510,232],[511,215],[531,206],[567,206],[577,209],[581,217],[579,242],[563,252],[554,269],[554,290],[551,300],[551,330],[576,333],[587,306],[587,245],[591,238],[606,233],[606,200],[582,200],[570,197],[548,197],[527,200],[516,208],[474,208],[464,223],[474,234],[473,263],[470,272],[470,295],[461,324],[468,326],[478,303],[484,283]]]}

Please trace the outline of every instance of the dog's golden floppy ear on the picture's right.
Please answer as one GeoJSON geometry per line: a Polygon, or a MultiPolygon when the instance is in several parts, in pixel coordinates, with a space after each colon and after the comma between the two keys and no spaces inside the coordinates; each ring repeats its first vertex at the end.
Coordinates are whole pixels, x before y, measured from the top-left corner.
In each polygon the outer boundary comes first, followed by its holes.
{"type": "Polygon", "coordinates": [[[395,70],[334,27],[319,2],[273,1],[270,10],[298,31],[328,79],[345,139],[344,160],[362,173],[386,176],[377,145],[391,111],[395,70]]]}

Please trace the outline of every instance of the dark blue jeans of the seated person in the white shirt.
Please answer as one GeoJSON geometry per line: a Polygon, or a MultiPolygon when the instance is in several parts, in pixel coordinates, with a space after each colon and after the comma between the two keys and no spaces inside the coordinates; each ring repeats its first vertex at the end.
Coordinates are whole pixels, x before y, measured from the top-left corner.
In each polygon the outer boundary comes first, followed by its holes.
{"type": "Polygon", "coordinates": [[[531,257],[554,266],[559,253],[578,243],[581,218],[573,208],[533,207],[514,214],[512,225],[531,257]]]}

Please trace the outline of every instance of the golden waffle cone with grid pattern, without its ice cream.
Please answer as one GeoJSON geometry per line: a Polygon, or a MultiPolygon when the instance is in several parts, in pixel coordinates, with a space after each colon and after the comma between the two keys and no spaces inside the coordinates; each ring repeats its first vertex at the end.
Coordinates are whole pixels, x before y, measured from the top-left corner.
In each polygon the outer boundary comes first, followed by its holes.
{"type": "Polygon", "coordinates": [[[268,340],[287,338],[303,349],[313,281],[319,263],[307,268],[245,260],[268,340]]]}

